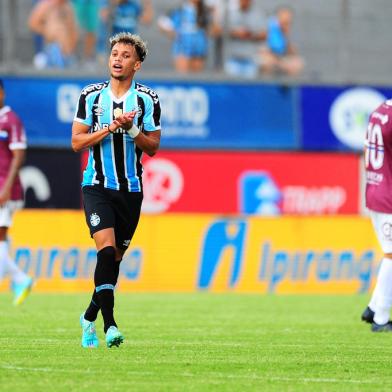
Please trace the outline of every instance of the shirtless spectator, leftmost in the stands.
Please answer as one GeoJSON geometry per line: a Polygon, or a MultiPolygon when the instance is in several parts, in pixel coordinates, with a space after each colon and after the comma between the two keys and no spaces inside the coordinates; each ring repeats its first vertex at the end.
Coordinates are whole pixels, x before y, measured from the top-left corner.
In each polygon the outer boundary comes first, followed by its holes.
{"type": "Polygon", "coordinates": [[[44,48],[35,58],[39,68],[66,68],[74,64],[78,29],[69,0],[41,0],[29,17],[30,29],[43,37],[44,48]]]}

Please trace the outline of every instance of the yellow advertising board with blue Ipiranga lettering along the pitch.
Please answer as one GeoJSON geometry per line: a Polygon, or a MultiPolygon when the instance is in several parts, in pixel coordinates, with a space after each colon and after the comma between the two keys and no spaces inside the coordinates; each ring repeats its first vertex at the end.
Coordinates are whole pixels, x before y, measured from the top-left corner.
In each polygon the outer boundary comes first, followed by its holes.
{"type": "MultiPolygon", "coordinates": [[[[36,291],[93,290],[96,251],[82,211],[21,211],[11,238],[36,291]]],[[[365,217],[146,215],[119,290],[356,293],[369,289],[380,257],[365,217]]]]}

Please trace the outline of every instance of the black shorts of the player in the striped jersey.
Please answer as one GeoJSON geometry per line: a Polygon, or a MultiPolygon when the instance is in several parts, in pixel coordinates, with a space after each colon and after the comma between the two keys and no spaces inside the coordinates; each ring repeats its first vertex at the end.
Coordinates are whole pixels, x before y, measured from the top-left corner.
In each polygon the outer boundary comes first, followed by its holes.
{"type": "Polygon", "coordinates": [[[91,237],[97,231],[113,227],[117,248],[126,250],[139,223],[143,193],[99,186],[84,186],[82,192],[91,237]]]}

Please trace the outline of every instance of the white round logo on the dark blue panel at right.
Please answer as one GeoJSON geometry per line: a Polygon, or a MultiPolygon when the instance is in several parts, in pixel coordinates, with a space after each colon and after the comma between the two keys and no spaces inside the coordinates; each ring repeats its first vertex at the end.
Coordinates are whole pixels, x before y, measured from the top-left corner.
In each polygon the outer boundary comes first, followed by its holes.
{"type": "Polygon", "coordinates": [[[336,138],[355,150],[362,150],[370,114],[384,95],[371,88],[352,88],[340,94],[329,112],[329,122],[336,138]]]}

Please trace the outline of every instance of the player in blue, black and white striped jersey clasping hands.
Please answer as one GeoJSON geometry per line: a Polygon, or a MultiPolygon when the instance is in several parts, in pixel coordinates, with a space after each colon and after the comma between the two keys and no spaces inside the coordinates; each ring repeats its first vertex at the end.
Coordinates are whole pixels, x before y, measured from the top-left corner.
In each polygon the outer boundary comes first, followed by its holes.
{"type": "Polygon", "coordinates": [[[158,151],[161,109],[157,94],[134,75],[147,55],[131,33],[110,38],[110,80],[85,87],[72,125],[74,151],[89,149],[82,181],[87,225],[95,241],[95,290],[81,315],[82,346],[97,347],[99,310],[108,347],[123,342],[114,319],[114,288],[120,261],[136,230],[143,199],[141,156],[158,151]]]}

